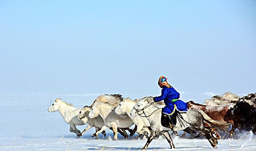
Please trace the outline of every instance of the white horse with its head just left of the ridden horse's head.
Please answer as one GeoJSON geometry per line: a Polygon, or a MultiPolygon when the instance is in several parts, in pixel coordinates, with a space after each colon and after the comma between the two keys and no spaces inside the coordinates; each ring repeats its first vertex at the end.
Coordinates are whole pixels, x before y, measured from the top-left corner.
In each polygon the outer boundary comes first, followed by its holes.
{"type": "MultiPolygon", "coordinates": [[[[124,98],[123,101],[121,101],[118,106],[115,108],[115,113],[121,115],[121,114],[127,114],[133,123],[137,126],[137,131],[139,136],[144,135],[145,133],[148,134],[148,136],[151,133],[151,128],[150,124],[148,122],[148,119],[146,117],[141,117],[141,116],[131,116],[130,112],[132,108],[136,105],[138,99],[132,101],[130,98],[124,98]]],[[[145,138],[145,135],[144,137],[145,138]]]]}

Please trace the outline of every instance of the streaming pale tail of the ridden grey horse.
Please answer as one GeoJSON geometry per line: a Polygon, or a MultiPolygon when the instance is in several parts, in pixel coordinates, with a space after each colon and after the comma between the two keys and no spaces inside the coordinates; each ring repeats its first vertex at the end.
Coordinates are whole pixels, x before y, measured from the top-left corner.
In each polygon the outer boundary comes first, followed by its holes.
{"type": "Polygon", "coordinates": [[[226,129],[230,127],[229,123],[223,123],[216,120],[211,119],[206,113],[204,113],[202,110],[198,110],[202,116],[203,116],[203,122],[207,123],[212,128],[220,128],[220,129],[226,129]]]}

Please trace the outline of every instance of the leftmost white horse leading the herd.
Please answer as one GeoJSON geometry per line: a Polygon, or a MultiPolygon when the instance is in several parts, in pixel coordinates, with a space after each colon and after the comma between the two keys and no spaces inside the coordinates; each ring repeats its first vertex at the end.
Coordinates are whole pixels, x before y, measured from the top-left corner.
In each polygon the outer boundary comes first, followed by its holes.
{"type": "Polygon", "coordinates": [[[76,118],[77,114],[81,109],[82,107],[75,108],[73,105],[67,104],[60,98],[56,98],[55,102],[53,102],[53,104],[48,108],[48,112],[59,111],[64,121],[69,124],[69,131],[75,133],[76,136],[79,136],[81,132],[75,126],[85,125],[88,122],[87,118],[83,118],[81,120],[76,118]]]}

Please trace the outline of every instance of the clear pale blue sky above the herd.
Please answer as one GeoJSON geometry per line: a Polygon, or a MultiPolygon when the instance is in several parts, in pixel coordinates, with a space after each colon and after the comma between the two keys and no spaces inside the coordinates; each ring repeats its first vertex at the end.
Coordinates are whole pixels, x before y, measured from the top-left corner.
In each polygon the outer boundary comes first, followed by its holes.
{"type": "Polygon", "coordinates": [[[0,94],[248,94],[255,57],[254,0],[0,1],[0,94]]]}

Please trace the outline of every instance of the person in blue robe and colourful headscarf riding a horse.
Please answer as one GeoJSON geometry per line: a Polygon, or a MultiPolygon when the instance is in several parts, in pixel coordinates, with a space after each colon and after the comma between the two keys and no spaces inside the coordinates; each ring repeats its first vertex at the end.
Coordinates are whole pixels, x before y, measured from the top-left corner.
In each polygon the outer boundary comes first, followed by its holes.
{"type": "Polygon", "coordinates": [[[162,109],[161,123],[164,127],[173,128],[177,121],[177,111],[175,112],[175,110],[178,110],[179,112],[186,112],[187,103],[178,100],[180,98],[180,94],[167,83],[167,79],[164,76],[159,78],[158,85],[162,88],[162,94],[159,97],[154,97],[154,102],[164,100],[164,104],[166,105],[162,109]]]}

